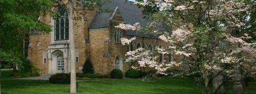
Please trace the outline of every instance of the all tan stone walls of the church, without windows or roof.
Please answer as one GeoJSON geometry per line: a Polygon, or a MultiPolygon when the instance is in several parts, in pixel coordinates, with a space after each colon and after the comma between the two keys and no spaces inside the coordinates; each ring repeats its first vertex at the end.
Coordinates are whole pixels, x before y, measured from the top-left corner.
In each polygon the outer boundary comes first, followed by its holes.
{"type": "MultiPolygon", "coordinates": [[[[81,72],[79,70],[79,66],[83,66],[84,61],[89,58],[90,61],[93,63],[95,72],[98,73],[108,73],[114,69],[114,62],[116,56],[119,55],[122,58],[123,64],[123,74],[125,76],[125,72],[131,68],[130,63],[125,63],[125,54],[128,52],[128,46],[122,45],[121,43],[114,42],[114,32],[117,28],[114,26],[119,25],[119,23],[123,22],[122,15],[119,11],[116,11],[113,19],[110,20],[109,28],[103,28],[99,30],[90,30],[88,31],[88,26],[95,15],[94,11],[82,11],[80,9],[78,13],[75,13],[75,17],[82,17],[86,16],[87,20],[84,22],[82,19],[74,21],[74,36],[75,36],[75,49],[79,50],[79,63],[76,64],[76,72],[81,72]],[[78,15],[79,13],[84,13],[84,15],[78,15]],[[88,38],[90,43],[85,43],[84,39],[88,38]],[[106,38],[109,38],[109,42],[104,42],[106,38]],[[104,53],[109,53],[108,57],[103,57],[104,53]]],[[[51,17],[49,14],[41,16],[41,22],[47,23],[50,25],[51,17]]],[[[54,30],[53,30],[54,31],[54,30]]],[[[126,37],[126,31],[122,31],[122,36],[126,37]]],[[[133,37],[133,36],[127,36],[133,37]]],[[[47,58],[47,64],[43,64],[43,52],[48,51],[48,45],[52,43],[51,41],[51,34],[43,34],[40,33],[39,35],[31,35],[29,37],[29,43],[32,44],[32,47],[28,49],[28,56],[31,57],[31,61],[34,62],[35,66],[39,69],[42,69],[44,73],[48,72],[49,62],[47,58]],[[39,45],[38,45],[39,44],[39,45]]],[[[137,37],[134,40],[135,45],[129,45],[131,50],[136,49],[137,43],[140,43],[142,47],[147,47],[149,44],[152,47],[156,47],[156,45],[161,45],[162,47],[165,46],[164,41],[160,41],[159,39],[151,39],[151,38],[144,38],[144,37],[137,37]]],[[[167,56],[164,56],[165,60],[169,60],[167,56]]],[[[180,57],[175,58],[173,56],[174,61],[179,61],[180,57]]],[[[133,65],[136,62],[132,62],[133,65]]],[[[144,68],[145,71],[150,70],[149,68],[144,68]]]]}

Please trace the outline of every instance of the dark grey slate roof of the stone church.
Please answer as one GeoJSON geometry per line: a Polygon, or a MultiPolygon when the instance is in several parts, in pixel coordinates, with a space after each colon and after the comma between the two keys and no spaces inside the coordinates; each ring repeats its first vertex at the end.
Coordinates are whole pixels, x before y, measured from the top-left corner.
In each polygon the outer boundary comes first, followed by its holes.
{"type": "MultiPolygon", "coordinates": [[[[116,6],[123,17],[123,20],[126,24],[134,25],[136,22],[140,22],[142,27],[145,27],[150,20],[143,19],[143,8],[138,8],[133,2],[125,0],[111,0],[111,3],[107,3],[102,6],[102,8],[108,8],[115,10],[116,6]]],[[[89,29],[93,28],[105,28],[108,27],[108,20],[111,18],[111,14],[109,13],[97,13],[91,22],[89,29]]],[[[127,31],[127,35],[130,36],[142,36],[142,37],[149,37],[143,33],[136,33],[134,31],[127,31]]]]}

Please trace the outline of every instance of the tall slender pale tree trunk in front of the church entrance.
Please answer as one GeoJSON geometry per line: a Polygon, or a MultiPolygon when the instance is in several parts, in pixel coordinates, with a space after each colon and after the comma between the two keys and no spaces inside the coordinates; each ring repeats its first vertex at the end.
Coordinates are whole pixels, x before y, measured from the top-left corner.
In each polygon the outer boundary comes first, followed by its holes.
{"type": "Polygon", "coordinates": [[[70,93],[76,93],[76,64],[75,64],[75,40],[73,25],[73,0],[68,0],[68,20],[70,31],[70,93]]]}

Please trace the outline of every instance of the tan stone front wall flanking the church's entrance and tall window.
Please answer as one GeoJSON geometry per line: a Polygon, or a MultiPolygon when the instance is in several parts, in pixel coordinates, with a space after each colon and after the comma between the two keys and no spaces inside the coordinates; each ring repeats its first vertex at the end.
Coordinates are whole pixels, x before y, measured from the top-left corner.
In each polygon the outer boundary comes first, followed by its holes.
{"type": "MultiPolygon", "coordinates": [[[[84,39],[88,38],[88,26],[92,21],[95,11],[85,11],[83,8],[77,8],[79,11],[75,11],[74,17],[87,17],[88,21],[82,19],[74,20],[74,38],[75,38],[75,49],[79,50],[79,63],[76,64],[76,72],[81,72],[79,66],[84,64],[86,58],[89,57],[89,43],[85,43],[84,39]],[[82,14],[80,14],[82,13],[82,14]]],[[[51,25],[50,14],[41,15],[41,22],[51,25]]],[[[52,30],[54,32],[54,30],[52,30]]],[[[51,33],[29,36],[29,43],[32,44],[31,48],[28,48],[28,56],[31,57],[31,61],[39,69],[46,69],[48,72],[49,62],[47,58],[47,64],[43,64],[43,52],[48,51],[48,45],[52,44],[51,33]],[[38,46],[39,43],[39,46],[38,46]]],[[[48,57],[48,55],[47,55],[48,57]]]]}

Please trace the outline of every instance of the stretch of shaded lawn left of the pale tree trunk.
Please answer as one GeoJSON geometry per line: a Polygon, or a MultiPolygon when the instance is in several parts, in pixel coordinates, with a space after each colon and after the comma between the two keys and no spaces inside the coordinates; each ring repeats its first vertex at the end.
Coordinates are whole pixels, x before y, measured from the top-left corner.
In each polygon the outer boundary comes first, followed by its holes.
{"type": "Polygon", "coordinates": [[[49,84],[48,80],[1,79],[3,94],[63,94],[69,92],[69,85],[49,84]]]}

